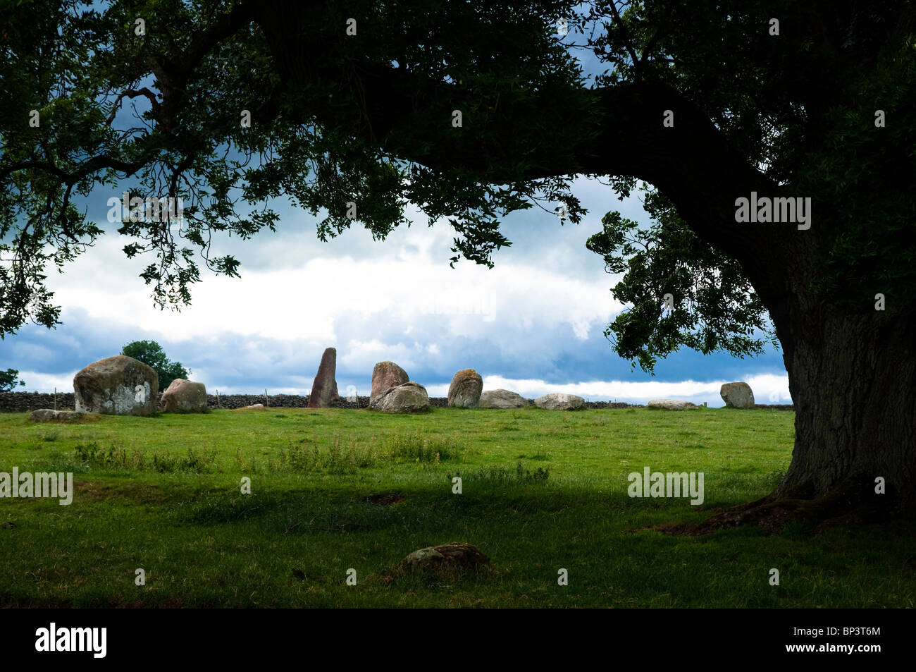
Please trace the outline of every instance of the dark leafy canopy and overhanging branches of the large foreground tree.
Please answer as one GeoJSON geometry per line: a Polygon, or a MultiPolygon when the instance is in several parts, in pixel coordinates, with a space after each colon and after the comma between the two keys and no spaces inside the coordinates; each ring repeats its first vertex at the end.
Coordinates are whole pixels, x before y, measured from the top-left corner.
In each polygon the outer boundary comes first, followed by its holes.
{"type": "Polygon", "coordinates": [[[453,262],[489,265],[508,212],[565,204],[581,220],[577,174],[660,188],[648,230],[608,215],[590,242],[629,270],[616,294],[633,309],[609,333],[646,368],[682,345],[752,354],[773,338],[748,270],[786,259],[721,230],[737,182],[836,215],[809,236],[829,301],[866,310],[893,292],[900,310],[916,272],[912,16],[909,2],[20,1],[2,28],[0,334],[59,321],[45,273],[102,234],[100,193],[183,199],[180,229],[119,229],[128,257],[154,258],[154,300],[177,306],[198,259],[238,275],[213,236],[274,228],[271,198],[322,213],[322,239],[354,223],[384,238],[414,203],[453,227],[453,262]],[[576,49],[605,62],[594,82],[576,49]],[[662,175],[664,160],[684,165],[662,175]]]}

